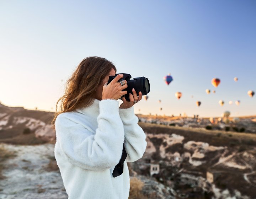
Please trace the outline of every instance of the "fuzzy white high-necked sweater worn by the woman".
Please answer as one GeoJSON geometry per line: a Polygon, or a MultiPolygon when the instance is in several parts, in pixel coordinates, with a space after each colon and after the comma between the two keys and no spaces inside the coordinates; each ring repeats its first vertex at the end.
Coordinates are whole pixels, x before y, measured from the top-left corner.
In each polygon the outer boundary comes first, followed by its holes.
{"type": "Polygon", "coordinates": [[[69,199],[128,199],[127,162],[140,159],[147,145],[133,106],[121,109],[114,99],[95,99],[89,107],[59,114],[55,130],[54,155],[69,199]],[[124,171],[114,178],[123,143],[124,171]]]}

